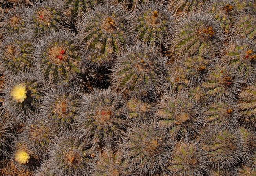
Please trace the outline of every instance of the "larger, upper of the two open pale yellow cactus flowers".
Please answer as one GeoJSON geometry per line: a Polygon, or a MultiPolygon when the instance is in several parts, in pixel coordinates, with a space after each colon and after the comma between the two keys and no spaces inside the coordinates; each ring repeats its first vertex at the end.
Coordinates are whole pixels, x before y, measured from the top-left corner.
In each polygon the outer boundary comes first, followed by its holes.
{"type": "Polygon", "coordinates": [[[27,98],[26,93],[25,83],[16,84],[13,89],[11,89],[11,96],[17,103],[22,103],[27,98]]]}

